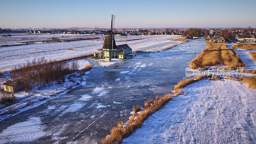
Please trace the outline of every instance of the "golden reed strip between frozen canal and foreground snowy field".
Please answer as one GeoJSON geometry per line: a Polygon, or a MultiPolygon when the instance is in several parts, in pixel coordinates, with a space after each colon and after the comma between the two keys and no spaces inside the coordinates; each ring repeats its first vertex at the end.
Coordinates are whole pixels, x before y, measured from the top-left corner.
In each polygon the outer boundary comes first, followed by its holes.
{"type": "MultiPolygon", "coordinates": [[[[192,78],[181,80],[177,85],[175,85],[175,95],[179,95],[181,93],[180,88],[185,87],[188,84],[192,84],[193,82],[196,82],[198,80],[201,80],[203,77],[206,76],[194,76],[192,78]]],[[[117,126],[114,126],[110,130],[110,136],[108,140],[106,138],[103,138],[101,140],[102,144],[112,144],[112,143],[120,143],[123,138],[128,137],[135,129],[140,127],[140,125],[147,119],[148,116],[155,113],[157,110],[159,110],[164,104],[166,104],[168,101],[172,100],[173,97],[175,97],[174,94],[165,94],[164,96],[156,96],[156,99],[153,100],[152,98],[149,98],[147,101],[144,102],[145,108],[141,110],[141,106],[137,105],[136,107],[133,106],[133,114],[130,117],[130,121],[127,125],[124,125],[124,122],[118,122],[117,126]],[[151,104],[153,104],[151,106],[151,104]],[[136,116],[135,113],[139,112],[139,114],[136,116]]]]}

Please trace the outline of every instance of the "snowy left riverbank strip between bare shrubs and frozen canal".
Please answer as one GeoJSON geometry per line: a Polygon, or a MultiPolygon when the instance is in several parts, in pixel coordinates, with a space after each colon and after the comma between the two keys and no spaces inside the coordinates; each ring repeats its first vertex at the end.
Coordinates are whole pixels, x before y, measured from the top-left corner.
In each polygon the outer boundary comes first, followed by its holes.
{"type": "MultiPolygon", "coordinates": [[[[87,60],[77,60],[78,68],[82,69],[90,63],[87,60]]],[[[14,93],[14,101],[12,103],[1,104],[0,106],[0,121],[15,116],[23,111],[31,108],[35,108],[47,102],[52,98],[56,98],[60,95],[67,93],[68,91],[85,85],[86,74],[90,73],[89,70],[82,74],[81,70],[78,70],[72,74],[65,76],[65,82],[58,84],[57,82],[51,82],[48,86],[37,87],[34,92],[20,91],[14,93]]],[[[4,82],[4,79],[10,78],[9,75],[2,76],[0,82],[4,82]]]]}

